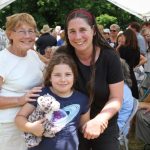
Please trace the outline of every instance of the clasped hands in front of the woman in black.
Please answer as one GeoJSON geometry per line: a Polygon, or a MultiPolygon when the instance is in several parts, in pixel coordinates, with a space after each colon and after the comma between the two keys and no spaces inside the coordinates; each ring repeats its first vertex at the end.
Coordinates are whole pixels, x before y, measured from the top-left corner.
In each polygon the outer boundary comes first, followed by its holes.
{"type": "Polygon", "coordinates": [[[86,139],[95,139],[100,136],[104,132],[104,130],[108,126],[108,121],[103,118],[99,118],[96,116],[95,118],[88,121],[83,127],[82,132],[84,134],[84,138],[86,139]]]}

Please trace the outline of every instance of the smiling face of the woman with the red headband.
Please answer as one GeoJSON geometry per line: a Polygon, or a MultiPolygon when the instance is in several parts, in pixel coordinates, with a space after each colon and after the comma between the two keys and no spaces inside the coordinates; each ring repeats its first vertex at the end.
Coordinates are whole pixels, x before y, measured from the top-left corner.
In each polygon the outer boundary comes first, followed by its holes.
{"type": "Polygon", "coordinates": [[[82,18],[74,18],[68,22],[68,39],[76,52],[87,52],[93,48],[94,30],[82,18]]]}

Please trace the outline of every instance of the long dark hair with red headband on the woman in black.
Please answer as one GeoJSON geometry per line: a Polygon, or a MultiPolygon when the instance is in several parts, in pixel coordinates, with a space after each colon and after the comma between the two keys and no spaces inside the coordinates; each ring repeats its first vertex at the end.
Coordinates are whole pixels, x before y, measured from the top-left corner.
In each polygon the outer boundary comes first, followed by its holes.
{"type": "Polygon", "coordinates": [[[67,43],[67,49],[69,50],[69,53],[72,54],[73,57],[75,57],[75,49],[74,47],[70,44],[69,39],[68,39],[68,24],[69,21],[71,21],[74,18],[82,18],[84,19],[87,24],[93,28],[94,30],[94,36],[93,36],[93,54],[92,54],[92,59],[90,62],[90,67],[91,67],[91,78],[90,81],[87,83],[87,89],[88,89],[88,94],[89,94],[89,103],[91,104],[94,98],[95,94],[95,72],[96,72],[96,67],[95,67],[95,56],[96,56],[96,47],[100,47],[101,51],[104,48],[109,48],[109,44],[106,42],[106,40],[103,38],[101,33],[99,32],[98,26],[96,24],[95,17],[87,10],[85,9],[75,9],[71,11],[67,18],[66,18],[66,23],[65,23],[65,36],[66,36],[66,43],[67,43]]]}

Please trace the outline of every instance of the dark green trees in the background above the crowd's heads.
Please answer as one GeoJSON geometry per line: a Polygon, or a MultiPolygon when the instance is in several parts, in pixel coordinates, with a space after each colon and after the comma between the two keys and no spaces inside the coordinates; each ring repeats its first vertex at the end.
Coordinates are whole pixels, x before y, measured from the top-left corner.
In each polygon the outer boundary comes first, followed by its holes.
{"type": "Polygon", "coordinates": [[[92,12],[104,26],[118,22],[125,28],[131,21],[139,21],[135,16],[123,11],[106,0],[16,0],[0,10],[0,27],[5,26],[6,17],[14,13],[27,12],[33,15],[38,28],[44,24],[50,27],[64,26],[67,14],[75,8],[85,8],[92,12]]]}

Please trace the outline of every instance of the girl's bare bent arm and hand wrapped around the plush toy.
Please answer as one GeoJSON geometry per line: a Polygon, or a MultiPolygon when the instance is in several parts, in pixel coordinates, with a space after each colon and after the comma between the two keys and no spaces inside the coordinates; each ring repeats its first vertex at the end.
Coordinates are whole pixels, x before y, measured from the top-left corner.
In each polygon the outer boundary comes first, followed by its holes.
{"type": "Polygon", "coordinates": [[[41,119],[33,123],[28,122],[27,120],[28,116],[34,111],[34,109],[35,107],[33,105],[29,103],[25,104],[16,115],[15,123],[17,127],[24,132],[29,132],[36,136],[42,136],[44,132],[42,123],[45,119],[41,119]]]}

